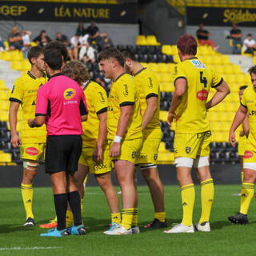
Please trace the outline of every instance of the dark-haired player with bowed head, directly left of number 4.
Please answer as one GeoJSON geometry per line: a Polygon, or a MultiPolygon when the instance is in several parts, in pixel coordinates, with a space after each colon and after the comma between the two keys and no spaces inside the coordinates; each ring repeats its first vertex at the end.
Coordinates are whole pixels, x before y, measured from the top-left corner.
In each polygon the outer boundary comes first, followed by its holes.
{"type": "MultiPolygon", "coordinates": [[[[144,226],[146,229],[167,227],[164,206],[164,190],[158,175],[158,148],[162,138],[160,127],[160,86],[154,73],[143,67],[130,50],[122,50],[125,58],[125,70],[134,76],[139,87],[142,109],[143,146],[136,158],[136,165],[140,166],[143,178],[150,188],[154,203],[154,221],[144,226]]],[[[138,207],[138,202],[136,203],[138,207]]],[[[135,210],[138,210],[135,208],[135,210]]],[[[138,215],[134,216],[133,226],[138,226],[138,215]]]]}

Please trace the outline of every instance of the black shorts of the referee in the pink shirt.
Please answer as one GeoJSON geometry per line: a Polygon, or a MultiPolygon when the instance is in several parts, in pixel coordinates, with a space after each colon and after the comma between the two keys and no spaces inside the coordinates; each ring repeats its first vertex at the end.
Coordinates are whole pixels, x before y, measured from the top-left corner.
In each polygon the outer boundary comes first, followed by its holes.
{"type": "Polygon", "coordinates": [[[82,152],[80,135],[48,136],[46,140],[46,173],[78,170],[82,152]]]}

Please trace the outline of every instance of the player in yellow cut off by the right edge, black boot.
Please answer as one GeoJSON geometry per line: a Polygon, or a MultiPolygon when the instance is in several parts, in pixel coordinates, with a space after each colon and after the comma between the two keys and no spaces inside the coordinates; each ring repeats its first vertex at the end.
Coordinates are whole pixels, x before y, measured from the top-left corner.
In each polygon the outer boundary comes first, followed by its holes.
{"type": "Polygon", "coordinates": [[[243,182],[241,190],[240,210],[238,214],[228,217],[231,223],[247,224],[247,213],[251,199],[254,197],[254,184],[256,180],[256,66],[251,66],[248,70],[252,85],[248,86],[242,94],[241,105],[235,114],[234,121],[230,128],[230,144],[235,146],[234,131],[249,115],[249,136],[246,140],[245,152],[243,155],[243,182]]]}

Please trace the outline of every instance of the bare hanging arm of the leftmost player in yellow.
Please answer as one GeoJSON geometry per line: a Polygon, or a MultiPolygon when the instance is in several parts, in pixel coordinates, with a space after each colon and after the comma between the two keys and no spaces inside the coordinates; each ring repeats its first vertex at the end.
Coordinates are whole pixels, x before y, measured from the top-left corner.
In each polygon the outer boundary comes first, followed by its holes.
{"type": "Polygon", "coordinates": [[[22,144],[21,138],[19,138],[17,133],[17,114],[19,108],[19,102],[10,102],[9,110],[9,123],[10,123],[10,134],[11,134],[11,145],[13,147],[18,147],[22,144]]]}

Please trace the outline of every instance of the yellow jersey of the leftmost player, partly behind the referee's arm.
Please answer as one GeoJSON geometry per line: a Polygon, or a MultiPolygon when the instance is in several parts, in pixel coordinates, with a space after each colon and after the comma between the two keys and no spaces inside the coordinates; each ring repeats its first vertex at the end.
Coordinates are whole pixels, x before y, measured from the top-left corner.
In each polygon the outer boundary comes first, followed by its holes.
{"type": "Polygon", "coordinates": [[[14,82],[9,100],[11,102],[19,102],[22,108],[22,123],[20,136],[22,143],[45,143],[46,142],[46,126],[30,128],[27,119],[33,119],[35,113],[35,105],[37,99],[38,88],[47,82],[46,75],[42,78],[36,78],[28,71],[22,74],[14,82]]]}

